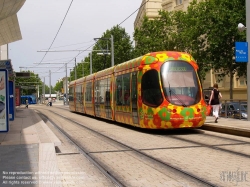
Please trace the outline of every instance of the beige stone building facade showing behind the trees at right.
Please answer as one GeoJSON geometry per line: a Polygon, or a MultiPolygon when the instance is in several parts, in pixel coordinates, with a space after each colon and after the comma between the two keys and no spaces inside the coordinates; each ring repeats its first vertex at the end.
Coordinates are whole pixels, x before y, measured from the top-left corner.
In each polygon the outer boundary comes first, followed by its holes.
{"type": "MultiPolygon", "coordinates": [[[[143,18],[147,16],[149,19],[155,19],[158,16],[159,10],[165,11],[186,11],[189,4],[193,0],[142,0],[140,10],[134,22],[134,28],[139,28],[142,24],[143,18]]],[[[200,0],[201,1],[201,0],[200,0]]],[[[219,90],[222,92],[223,99],[230,99],[230,78],[225,76],[220,78],[220,73],[213,70],[207,72],[205,80],[203,81],[203,88],[213,87],[214,83],[218,83],[219,90]]],[[[247,100],[247,82],[245,77],[233,77],[233,99],[234,100],[247,100]]]]}

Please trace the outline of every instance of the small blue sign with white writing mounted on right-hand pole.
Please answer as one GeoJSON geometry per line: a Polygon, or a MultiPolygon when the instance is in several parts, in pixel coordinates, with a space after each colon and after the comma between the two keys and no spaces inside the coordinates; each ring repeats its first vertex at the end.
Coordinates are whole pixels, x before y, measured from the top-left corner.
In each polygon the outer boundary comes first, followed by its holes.
{"type": "Polygon", "coordinates": [[[248,42],[235,42],[235,62],[248,62],[248,42]]]}

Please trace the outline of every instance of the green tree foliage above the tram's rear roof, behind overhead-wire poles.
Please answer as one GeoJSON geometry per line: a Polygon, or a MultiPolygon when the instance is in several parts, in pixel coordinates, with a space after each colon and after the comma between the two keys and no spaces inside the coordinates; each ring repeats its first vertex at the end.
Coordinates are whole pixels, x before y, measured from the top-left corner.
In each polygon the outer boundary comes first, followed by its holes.
{"type": "MultiPolygon", "coordinates": [[[[128,33],[120,26],[114,26],[110,30],[107,30],[103,35],[97,39],[97,42],[93,46],[92,52],[92,73],[111,67],[111,35],[113,35],[114,41],[114,65],[120,64],[134,57],[133,45],[128,33]],[[97,53],[109,52],[109,55],[98,55],[97,53]]],[[[77,64],[76,72],[77,78],[90,74],[90,57],[85,57],[81,62],[77,64]]],[[[75,68],[70,73],[70,80],[75,80],[75,68]]]]}

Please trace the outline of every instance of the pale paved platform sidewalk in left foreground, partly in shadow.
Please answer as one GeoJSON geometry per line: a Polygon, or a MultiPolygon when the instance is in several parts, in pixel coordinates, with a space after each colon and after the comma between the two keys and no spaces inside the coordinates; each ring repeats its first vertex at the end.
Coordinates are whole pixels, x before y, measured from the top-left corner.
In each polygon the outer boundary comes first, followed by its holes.
{"type": "Polygon", "coordinates": [[[60,144],[34,110],[17,108],[9,132],[0,133],[0,186],[61,186],[49,178],[59,171],[55,146],[60,144]]]}

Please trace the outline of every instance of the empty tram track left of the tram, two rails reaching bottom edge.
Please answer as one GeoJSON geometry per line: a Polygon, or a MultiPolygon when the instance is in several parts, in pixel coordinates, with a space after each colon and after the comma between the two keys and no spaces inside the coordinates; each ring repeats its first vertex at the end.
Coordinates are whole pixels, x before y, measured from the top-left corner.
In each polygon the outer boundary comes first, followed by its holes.
{"type": "MultiPolygon", "coordinates": [[[[165,168],[168,168],[168,169],[171,169],[171,170],[174,170],[175,172],[178,172],[180,173],[181,175],[184,175],[188,178],[191,178],[192,180],[195,180],[197,183],[199,183],[200,185],[198,186],[217,186],[215,184],[212,184],[211,182],[209,181],[206,181],[192,173],[189,173],[177,166],[173,166],[171,163],[167,163],[166,161],[163,161],[163,160],[160,160],[160,159],[157,159],[145,152],[144,149],[135,149],[127,144],[124,144],[118,140],[115,140],[103,133],[100,133],[96,130],[93,130],[89,127],[87,127],[86,125],[82,124],[82,123],[79,123],[78,121],[75,121],[74,119],[70,119],[68,117],[65,117],[57,112],[54,112],[54,111],[50,111],[52,112],[54,115],[57,115],[57,116],[60,116],[61,118],[63,118],[64,120],[67,120],[69,121],[70,123],[74,123],[75,125],[78,125],[79,127],[81,128],[84,128],[84,129],[87,129],[88,131],[91,131],[92,133],[95,133],[97,136],[101,136],[105,139],[107,139],[108,141],[112,141],[113,143],[115,144],[119,144],[121,147],[123,147],[123,149],[119,150],[121,152],[126,152],[126,151],[130,151],[130,152],[134,152],[136,153],[137,155],[140,155],[140,157],[144,157],[146,158],[147,160],[151,160],[157,164],[161,164],[162,166],[164,166],[165,168]]],[[[44,114],[43,114],[44,115],[44,114]]],[[[95,165],[97,165],[98,168],[100,168],[100,170],[105,174],[105,176],[107,175],[108,178],[110,178],[112,181],[114,180],[114,183],[117,185],[117,186],[126,186],[124,183],[121,182],[121,180],[117,179],[115,177],[115,175],[112,174],[111,171],[107,170],[105,167],[106,166],[103,166],[101,163],[98,163],[96,161],[96,159],[94,157],[92,157],[91,155],[92,154],[95,154],[97,152],[90,152],[88,150],[86,150],[85,148],[83,148],[81,145],[79,145],[79,142],[77,140],[74,139],[74,137],[71,137],[67,132],[65,132],[62,128],[58,127],[52,119],[50,119],[49,117],[46,116],[47,119],[49,119],[49,121],[51,121],[53,123],[54,126],[56,126],[56,128],[58,128],[60,130],[61,133],[65,134],[65,136],[67,136],[70,141],[72,141],[77,147],[79,147],[79,149],[81,150],[81,152],[86,156],[88,157],[89,160],[91,160],[91,162],[96,162],[95,165]]],[[[105,151],[101,151],[102,153],[105,152],[105,151]]]]}

